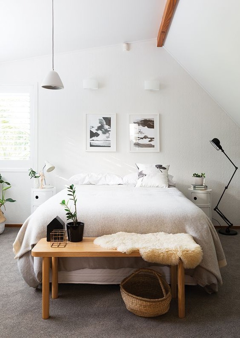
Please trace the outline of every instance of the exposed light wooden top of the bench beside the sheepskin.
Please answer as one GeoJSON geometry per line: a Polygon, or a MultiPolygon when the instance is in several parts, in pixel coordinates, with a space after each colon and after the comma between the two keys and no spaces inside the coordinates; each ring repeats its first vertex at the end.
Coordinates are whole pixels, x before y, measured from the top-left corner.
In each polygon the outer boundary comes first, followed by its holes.
{"type": "Polygon", "coordinates": [[[33,247],[34,257],[141,257],[139,251],[125,254],[117,250],[102,248],[93,241],[96,237],[84,237],[82,242],[68,242],[65,247],[51,247],[47,238],[42,238],[33,247]]]}

